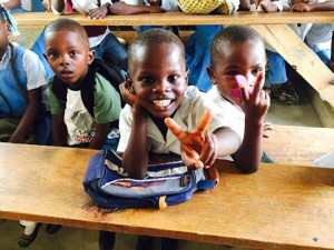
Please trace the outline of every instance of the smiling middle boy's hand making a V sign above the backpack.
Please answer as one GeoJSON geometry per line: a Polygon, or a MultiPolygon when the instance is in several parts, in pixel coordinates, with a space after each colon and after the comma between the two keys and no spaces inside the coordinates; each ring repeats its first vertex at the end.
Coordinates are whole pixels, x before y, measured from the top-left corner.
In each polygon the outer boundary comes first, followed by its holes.
{"type": "Polygon", "coordinates": [[[217,138],[206,130],[212,116],[206,111],[191,132],[184,131],[171,118],[165,119],[168,129],[180,141],[183,161],[188,167],[210,167],[217,157],[217,138]]]}

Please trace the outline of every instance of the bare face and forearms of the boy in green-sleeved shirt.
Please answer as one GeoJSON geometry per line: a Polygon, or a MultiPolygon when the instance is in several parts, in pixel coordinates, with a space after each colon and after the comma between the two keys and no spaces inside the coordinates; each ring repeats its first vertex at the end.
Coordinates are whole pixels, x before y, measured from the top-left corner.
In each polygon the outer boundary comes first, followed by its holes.
{"type": "MultiPolygon", "coordinates": [[[[45,36],[46,57],[56,76],[67,84],[81,84],[95,54],[89,50],[86,32],[60,30],[45,36]],[[59,42],[62,41],[62,42],[59,42]]],[[[109,132],[109,123],[96,123],[90,149],[101,149],[109,132]]],[[[56,146],[67,146],[63,113],[52,114],[52,134],[56,146]]]]}

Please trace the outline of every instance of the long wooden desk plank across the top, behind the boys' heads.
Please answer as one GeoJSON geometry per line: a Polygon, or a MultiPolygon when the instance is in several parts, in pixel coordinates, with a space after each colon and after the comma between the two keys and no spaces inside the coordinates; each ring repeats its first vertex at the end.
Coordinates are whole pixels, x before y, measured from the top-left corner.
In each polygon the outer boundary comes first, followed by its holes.
{"type": "Polygon", "coordinates": [[[233,14],[186,14],[183,12],[146,13],[130,16],[107,16],[91,20],[80,13],[56,16],[52,12],[12,13],[19,24],[46,26],[50,21],[68,17],[82,26],[193,26],[193,24],[272,24],[272,23],[332,23],[332,11],[322,12],[272,12],[259,11],[234,12],[233,14]]]}

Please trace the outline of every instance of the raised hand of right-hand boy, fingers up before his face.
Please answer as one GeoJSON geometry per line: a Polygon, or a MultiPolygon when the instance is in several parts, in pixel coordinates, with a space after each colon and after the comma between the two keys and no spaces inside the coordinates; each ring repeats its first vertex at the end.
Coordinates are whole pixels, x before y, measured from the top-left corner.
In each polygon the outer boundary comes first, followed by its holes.
{"type": "Polygon", "coordinates": [[[263,90],[263,73],[258,74],[252,93],[248,93],[246,88],[240,86],[240,107],[244,110],[246,118],[250,118],[254,122],[261,123],[263,123],[271,106],[269,94],[263,90]]]}

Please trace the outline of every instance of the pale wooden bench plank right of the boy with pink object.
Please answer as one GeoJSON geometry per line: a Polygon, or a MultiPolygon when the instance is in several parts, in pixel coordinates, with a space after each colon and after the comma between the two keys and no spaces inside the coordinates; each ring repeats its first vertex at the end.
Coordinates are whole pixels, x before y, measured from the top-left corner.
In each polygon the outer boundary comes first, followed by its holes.
{"type": "Polygon", "coordinates": [[[333,128],[273,126],[266,134],[264,151],[279,164],[311,166],[316,158],[334,152],[333,128]]]}

